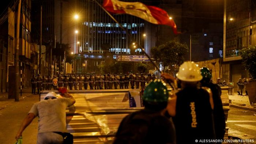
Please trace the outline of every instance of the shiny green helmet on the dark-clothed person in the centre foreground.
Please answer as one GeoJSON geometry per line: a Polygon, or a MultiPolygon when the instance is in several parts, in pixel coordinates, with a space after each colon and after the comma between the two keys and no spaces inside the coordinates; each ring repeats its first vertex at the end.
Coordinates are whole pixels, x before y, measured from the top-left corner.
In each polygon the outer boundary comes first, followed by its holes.
{"type": "Polygon", "coordinates": [[[144,90],[143,100],[147,102],[167,102],[169,94],[165,85],[159,79],[149,83],[144,90]]]}

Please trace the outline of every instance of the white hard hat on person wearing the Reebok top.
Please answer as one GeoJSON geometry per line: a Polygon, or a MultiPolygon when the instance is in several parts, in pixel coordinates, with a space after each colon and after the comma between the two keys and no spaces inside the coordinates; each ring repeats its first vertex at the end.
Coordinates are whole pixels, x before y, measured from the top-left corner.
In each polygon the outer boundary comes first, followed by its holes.
{"type": "Polygon", "coordinates": [[[198,64],[195,64],[193,61],[183,62],[176,76],[179,80],[185,82],[197,82],[203,79],[198,64]]]}

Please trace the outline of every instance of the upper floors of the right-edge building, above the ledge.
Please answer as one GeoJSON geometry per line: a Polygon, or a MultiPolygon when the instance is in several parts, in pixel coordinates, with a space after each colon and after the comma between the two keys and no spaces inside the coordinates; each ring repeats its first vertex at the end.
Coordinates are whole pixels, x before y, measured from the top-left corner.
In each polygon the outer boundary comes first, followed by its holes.
{"type": "Polygon", "coordinates": [[[255,24],[250,22],[249,14],[252,2],[251,0],[225,0],[224,2],[224,61],[240,60],[240,50],[256,41],[253,39],[255,35],[252,35],[253,30],[253,34],[256,32],[255,24]]]}

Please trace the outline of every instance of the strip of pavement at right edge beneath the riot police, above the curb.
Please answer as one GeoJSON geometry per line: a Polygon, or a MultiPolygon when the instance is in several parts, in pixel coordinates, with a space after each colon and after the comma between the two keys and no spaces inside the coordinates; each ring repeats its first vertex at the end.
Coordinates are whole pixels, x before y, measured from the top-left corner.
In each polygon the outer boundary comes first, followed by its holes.
{"type": "Polygon", "coordinates": [[[229,95],[229,106],[256,111],[256,104],[250,103],[249,98],[246,95],[229,95]]]}

